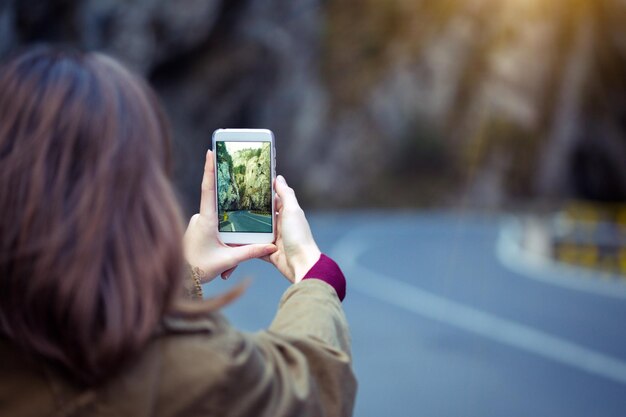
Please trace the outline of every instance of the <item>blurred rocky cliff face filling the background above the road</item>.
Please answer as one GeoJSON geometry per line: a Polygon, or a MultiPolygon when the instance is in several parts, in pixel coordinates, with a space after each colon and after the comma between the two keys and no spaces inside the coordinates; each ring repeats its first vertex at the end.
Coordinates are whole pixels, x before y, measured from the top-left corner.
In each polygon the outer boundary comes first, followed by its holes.
{"type": "MultiPolygon", "coordinates": [[[[61,41],[146,76],[172,119],[190,212],[219,127],[272,129],[278,170],[308,207],[624,201],[625,11],[621,0],[4,0],[0,55],[61,41]]],[[[237,181],[224,198],[254,186],[237,181]]]]}

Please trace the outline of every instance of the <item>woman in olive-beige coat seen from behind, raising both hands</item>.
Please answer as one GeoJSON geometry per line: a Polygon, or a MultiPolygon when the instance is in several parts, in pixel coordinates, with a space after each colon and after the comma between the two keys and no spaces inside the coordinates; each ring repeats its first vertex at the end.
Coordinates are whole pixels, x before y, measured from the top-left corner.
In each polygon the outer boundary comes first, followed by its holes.
{"type": "Polygon", "coordinates": [[[0,415],[350,415],[345,281],[293,190],[276,181],[276,245],[225,246],[209,152],[183,239],[169,143],[110,58],[39,47],[0,69],[0,415]],[[184,291],[259,257],[293,283],[267,331],[217,311],[241,287],[184,291]]]}

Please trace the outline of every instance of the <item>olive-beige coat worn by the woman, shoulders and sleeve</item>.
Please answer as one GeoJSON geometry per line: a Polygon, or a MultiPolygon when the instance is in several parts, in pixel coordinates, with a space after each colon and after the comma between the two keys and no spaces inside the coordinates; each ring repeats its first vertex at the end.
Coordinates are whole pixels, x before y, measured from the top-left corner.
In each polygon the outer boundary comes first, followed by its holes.
{"type": "Polygon", "coordinates": [[[356,380],[332,287],[292,285],[268,330],[219,313],[165,319],[142,355],[97,390],[72,386],[0,339],[0,416],[349,416],[356,380]]]}

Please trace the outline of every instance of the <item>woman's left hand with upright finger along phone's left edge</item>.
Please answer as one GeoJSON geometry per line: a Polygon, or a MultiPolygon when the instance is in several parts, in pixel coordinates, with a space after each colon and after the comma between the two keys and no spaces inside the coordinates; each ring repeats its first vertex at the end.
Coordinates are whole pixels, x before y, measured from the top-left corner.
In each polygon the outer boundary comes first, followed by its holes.
{"type": "Polygon", "coordinates": [[[191,217],[183,240],[187,262],[198,272],[202,282],[209,282],[220,274],[227,279],[239,263],[276,251],[273,244],[232,247],[222,243],[217,231],[214,170],[213,152],[208,151],[202,177],[200,213],[191,217]]]}

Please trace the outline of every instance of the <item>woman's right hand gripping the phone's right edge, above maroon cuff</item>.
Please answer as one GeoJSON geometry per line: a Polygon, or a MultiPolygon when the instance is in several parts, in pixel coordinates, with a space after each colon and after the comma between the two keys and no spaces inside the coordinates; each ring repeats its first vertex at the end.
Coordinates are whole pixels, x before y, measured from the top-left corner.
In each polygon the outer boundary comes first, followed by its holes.
{"type": "Polygon", "coordinates": [[[271,262],[291,282],[302,280],[319,259],[321,252],[298,204],[294,191],[279,175],[276,178],[276,246],[278,250],[264,259],[271,262]]]}

